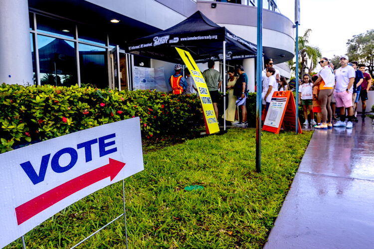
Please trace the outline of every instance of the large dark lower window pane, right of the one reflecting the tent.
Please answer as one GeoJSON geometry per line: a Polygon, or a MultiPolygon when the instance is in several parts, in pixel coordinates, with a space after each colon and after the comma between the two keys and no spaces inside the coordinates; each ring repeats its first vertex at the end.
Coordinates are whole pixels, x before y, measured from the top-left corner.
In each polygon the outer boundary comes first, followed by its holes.
{"type": "Polygon", "coordinates": [[[107,52],[105,48],[79,43],[81,83],[98,88],[109,87],[107,52]]]}

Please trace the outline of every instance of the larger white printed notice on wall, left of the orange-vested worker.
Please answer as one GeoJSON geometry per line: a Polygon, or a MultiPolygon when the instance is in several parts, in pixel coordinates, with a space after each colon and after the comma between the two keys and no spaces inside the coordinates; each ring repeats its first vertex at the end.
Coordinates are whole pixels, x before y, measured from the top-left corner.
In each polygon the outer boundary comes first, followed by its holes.
{"type": "Polygon", "coordinates": [[[155,89],[155,69],[148,67],[134,67],[133,81],[135,90],[155,89]]]}

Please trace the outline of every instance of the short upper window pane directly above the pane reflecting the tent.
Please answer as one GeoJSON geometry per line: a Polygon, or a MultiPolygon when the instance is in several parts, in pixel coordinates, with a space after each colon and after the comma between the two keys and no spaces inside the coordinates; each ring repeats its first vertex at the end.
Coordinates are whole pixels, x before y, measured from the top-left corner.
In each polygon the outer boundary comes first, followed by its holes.
{"type": "Polygon", "coordinates": [[[44,15],[36,15],[36,26],[40,32],[74,38],[75,24],[68,21],[57,20],[44,15]]]}

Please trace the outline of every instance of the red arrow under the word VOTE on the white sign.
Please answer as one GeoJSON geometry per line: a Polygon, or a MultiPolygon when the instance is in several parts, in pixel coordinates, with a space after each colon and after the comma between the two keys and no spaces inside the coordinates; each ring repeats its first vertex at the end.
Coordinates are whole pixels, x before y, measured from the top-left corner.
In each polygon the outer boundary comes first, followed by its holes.
{"type": "Polygon", "coordinates": [[[113,181],[126,163],[109,158],[109,164],[87,172],[15,208],[18,225],[49,208],[53,204],[100,180],[110,177],[113,181]]]}

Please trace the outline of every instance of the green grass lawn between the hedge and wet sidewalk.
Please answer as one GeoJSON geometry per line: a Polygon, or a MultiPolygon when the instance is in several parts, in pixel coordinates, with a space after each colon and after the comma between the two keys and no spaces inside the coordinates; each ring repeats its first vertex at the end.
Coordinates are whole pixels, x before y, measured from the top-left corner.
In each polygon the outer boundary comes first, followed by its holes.
{"type": "MultiPolygon", "coordinates": [[[[254,129],[153,148],[145,170],[126,179],[129,248],[262,248],[311,135],[264,132],[260,174],[254,129]]],[[[70,248],[121,212],[119,182],[26,234],[27,248],[70,248]]],[[[79,248],[125,248],[124,234],[120,218],[79,248]]],[[[7,248],[21,248],[20,240],[7,248]]]]}

